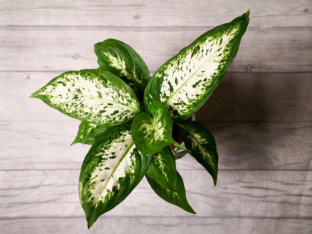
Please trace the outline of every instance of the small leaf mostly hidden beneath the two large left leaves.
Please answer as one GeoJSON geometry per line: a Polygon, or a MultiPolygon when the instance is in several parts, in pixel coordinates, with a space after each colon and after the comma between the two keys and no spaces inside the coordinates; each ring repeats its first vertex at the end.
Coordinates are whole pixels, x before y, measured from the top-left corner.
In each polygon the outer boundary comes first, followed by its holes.
{"type": "Polygon", "coordinates": [[[76,144],[76,143],[92,145],[95,143],[97,137],[103,132],[105,132],[105,130],[108,128],[109,127],[91,124],[91,123],[82,121],[79,124],[79,129],[78,129],[76,139],[71,145],[76,144]]]}

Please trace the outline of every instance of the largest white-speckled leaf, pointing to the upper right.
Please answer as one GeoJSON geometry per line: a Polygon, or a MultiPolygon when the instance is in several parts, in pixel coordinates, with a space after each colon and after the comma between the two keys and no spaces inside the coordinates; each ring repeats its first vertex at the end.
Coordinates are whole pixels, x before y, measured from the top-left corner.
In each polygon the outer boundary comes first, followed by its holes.
{"type": "Polygon", "coordinates": [[[144,92],[146,106],[155,101],[168,109],[173,124],[191,117],[208,100],[238,51],[249,11],[205,32],[164,63],[144,92]]]}

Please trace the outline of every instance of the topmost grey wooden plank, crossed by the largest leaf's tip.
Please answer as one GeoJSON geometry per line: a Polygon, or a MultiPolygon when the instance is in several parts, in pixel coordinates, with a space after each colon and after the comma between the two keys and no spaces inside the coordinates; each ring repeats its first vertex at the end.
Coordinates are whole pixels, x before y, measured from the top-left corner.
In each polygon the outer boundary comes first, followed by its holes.
{"type": "MultiPolygon", "coordinates": [[[[312,4],[292,1],[6,1],[0,5],[2,27],[136,27],[174,30],[180,27],[217,26],[251,9],[255,29],[311,27],[312,4]],[[307,11],[308,10],[308,11],[307,11]]],[[[136,29],[137,30],[137,29],[136,29]]]]}

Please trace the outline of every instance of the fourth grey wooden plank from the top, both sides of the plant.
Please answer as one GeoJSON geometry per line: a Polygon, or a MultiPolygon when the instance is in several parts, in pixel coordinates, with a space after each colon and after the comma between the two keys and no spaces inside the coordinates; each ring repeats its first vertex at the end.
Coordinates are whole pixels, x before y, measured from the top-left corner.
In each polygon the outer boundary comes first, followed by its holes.
{"type": "MultiPolygon", "coordinates": [[[[74,122],[0,122],[5,149],[1,170],[80,169],[90,146],[70,146],[78,131],[74,122]],[[18,161],[18,163],[16,163],[18,161]]],[[[219,170],[312,170],[312,123],[207,122],[216,139],[219,170]]],[[[201,169],[191,156],[178,169],[201,169]]]]}

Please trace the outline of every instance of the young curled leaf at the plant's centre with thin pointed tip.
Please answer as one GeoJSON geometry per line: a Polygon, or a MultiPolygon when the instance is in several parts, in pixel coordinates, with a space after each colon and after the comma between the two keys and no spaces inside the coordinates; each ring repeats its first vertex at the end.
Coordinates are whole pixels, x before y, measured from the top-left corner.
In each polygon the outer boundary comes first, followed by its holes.
{"type": "Polygon", "coordinates": [[[140,113],[132,121],[131,133],[138,150],[143,154],[155,154],[171,144],[185,149],[172,138],[172,120],[165,106],[154,102],[147,110],[149,113],[140,113]]]}

